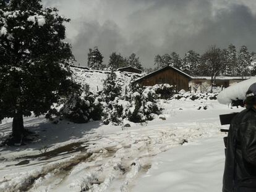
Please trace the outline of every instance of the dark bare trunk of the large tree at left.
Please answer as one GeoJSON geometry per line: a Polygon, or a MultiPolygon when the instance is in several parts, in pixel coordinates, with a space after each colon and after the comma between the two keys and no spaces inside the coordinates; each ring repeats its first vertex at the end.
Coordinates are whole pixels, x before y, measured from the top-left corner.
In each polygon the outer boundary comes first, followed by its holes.
{"type": "Polygon", "coordinates": [[[12,136],[14,143],[21,143],[24,133],[23,115],[21,112],[17,112],[12,120],[12,136]]]}

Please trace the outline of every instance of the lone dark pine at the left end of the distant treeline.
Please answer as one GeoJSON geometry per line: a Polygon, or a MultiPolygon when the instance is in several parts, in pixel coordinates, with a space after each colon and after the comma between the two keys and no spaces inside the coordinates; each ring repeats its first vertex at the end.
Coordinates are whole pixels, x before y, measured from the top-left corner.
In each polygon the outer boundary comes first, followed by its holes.
{"type": "Polygon", "coordinates": [[[98,47],[93,49],[89,49],[88,52],[88,67],[96,70],[102,69],[103,56],[101,52],[98,50],[98,47]]]}

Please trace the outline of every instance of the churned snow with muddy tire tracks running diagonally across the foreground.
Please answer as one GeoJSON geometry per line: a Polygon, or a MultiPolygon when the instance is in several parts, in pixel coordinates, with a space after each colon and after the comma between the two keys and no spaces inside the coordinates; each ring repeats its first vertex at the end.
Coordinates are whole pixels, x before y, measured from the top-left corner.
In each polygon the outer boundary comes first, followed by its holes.
{"type": "Polygon", "coordinates": [[[69,186],[71,191],[128,192],[135,178],[150,169],[152,156],[179,146],[184,140],[190,142],[209,136],[208,124],[179,123],[173,127],[176,128],[149,128],[102,135],[87,141],[87,151],[43,165],[17,180],[3,182],[0,191],[34,192],[45,185],[48,191],[69,186]]]}

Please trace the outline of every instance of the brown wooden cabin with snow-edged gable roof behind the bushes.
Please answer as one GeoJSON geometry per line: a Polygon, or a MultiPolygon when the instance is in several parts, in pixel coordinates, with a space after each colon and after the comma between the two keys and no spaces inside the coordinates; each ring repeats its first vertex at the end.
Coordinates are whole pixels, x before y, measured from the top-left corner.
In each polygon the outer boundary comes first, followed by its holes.
{"type": "Polygon", "coordinates": [[[192,78],[187,73],[182,72],[171,66],[164,67],[139,78],[134,83],[140,83],[143,86],[154,86],[156,84],[168,83],[176,86],[176,90],[189,91],[189,81],[192,78]]]}

